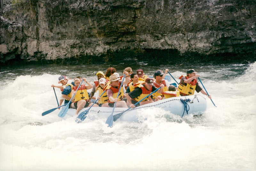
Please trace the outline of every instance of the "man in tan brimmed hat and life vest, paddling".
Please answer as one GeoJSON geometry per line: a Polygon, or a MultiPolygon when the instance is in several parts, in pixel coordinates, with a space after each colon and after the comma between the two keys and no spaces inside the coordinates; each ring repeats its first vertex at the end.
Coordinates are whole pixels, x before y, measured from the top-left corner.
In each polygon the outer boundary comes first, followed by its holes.
{"type": "MultiPolygon", "coordinates": [[[[130,82],[129,77],[128,77],[128,72],[124,71],[125,74],[125,79],[123,84],[128,84],[130,82]]],[[[116,74],[110,75],[109,76],[109,81],[110,84],[107,85],[106,91],[107,91],[107,96],[108,96],[108,106],[109,107],[114,107],[114,104],[116,102],[116,107],[127,107],[126,102],[122,100],[124,97],[124,90],[121,87],[122,80],[117,77],[116,74]],[[120,93],[118,94],[118,91],[121,87],[120,93]]]]}

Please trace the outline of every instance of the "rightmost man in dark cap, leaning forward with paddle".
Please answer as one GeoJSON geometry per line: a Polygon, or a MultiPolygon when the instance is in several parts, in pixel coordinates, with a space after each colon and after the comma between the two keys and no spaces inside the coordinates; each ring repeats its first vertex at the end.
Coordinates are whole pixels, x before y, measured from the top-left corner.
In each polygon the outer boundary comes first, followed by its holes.
{"type": "Polygon", "coordinates": [[[180,76],[180,83],[178,90],[180,91],[180,96],[188,96],[193,95],[195,90],[197,93],[201,92],[209,98],[212,98],[211,95],[207,95],[207,93],[199,86],[197,82],[197,77],[200,75],[196,74],[197,72],[194,69],[189,69],[187,71],[187,76],[180,76]]]}

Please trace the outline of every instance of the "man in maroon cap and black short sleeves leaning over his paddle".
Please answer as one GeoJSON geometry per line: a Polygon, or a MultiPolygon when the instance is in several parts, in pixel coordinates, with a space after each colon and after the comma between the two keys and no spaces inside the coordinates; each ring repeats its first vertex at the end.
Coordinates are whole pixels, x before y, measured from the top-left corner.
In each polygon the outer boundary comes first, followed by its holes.
{"type": "MultiPolygon", "coordinates": [[[[163,91],[164,85],[160,85],[160,89],[156,92],[161,93],[163,91]]],[[[157,88],[153,85],[153,78],[147,78],[145,83],[138,84],[133,91],[126,95],[127,103],[130,104],[130,107],[135,107],[134,104],[142,100],[143,98],[147,97],[152,91],[155,91],[157,88]]],[[[148,97],[141,101],[139,104],[136,105],[145,105],[148,103],[154,102],[153,100],[148,100],[148,97]]]]}

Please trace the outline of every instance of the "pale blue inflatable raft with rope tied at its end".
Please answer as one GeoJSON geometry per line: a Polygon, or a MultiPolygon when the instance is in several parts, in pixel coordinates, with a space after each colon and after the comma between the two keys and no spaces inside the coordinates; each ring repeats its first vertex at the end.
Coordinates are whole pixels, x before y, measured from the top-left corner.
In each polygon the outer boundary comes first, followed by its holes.
{"type": "MultiPolygon", "coordinates": [[[[191,96],[183,96],[183,97],[171,97],[163,100],[159,100],[153,103],[149,103],[146,105],[141,105],[135,108],[131,108],[128,111],[124,112],[127,108],[116,107],[114,109],[113,116],[119,113],[122,113],[122,116],[118,120],[129,121],[129,122],[138,122],[140,121],[140,113],[144,109],[150,108],[161,108],[165,111],[169,111],[175,115],[179,115],[181,117],[193,114],[193,115],[201,115],[206,110],[206,99],[197,94],[191,96]]],[[[87,110],[88,108],[82,109],[78,114],[87,110]]],[[[74,116],[76,109],[68,109],[67,115],[74,116]]],[[[86,119],[95,118],[95,115],[100,115],[108,118],[113,111],[112,107],[91,107],[89,112],[87,113],[86,119]]],[[[66,115],[66,116],[67,116],[66,115]]]]}

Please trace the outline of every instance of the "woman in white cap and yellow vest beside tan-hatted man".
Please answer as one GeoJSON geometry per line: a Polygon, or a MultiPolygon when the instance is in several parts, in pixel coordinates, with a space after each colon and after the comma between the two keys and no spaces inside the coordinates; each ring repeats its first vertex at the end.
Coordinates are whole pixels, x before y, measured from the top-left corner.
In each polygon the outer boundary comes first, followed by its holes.
{"type": "Polygon", "coordinates": [[[99,85],[96,87],[95,98],[99,99],[98,105],[101,107],[108,107],[108,96],[105,90],[105,86],[107,85],[105,78],[100,78],[99,85]],[[103,93],[104,92],[104,93],[103,93]],[[102,94],[103,93],[103,94],[102,94]],[[101,95],[102,94],[102,95],[101,95]],[[101,97],[100,97],[101,95],[101,97]]]}

